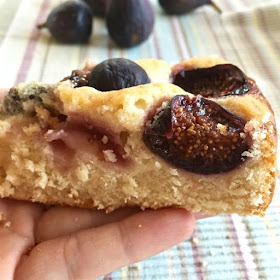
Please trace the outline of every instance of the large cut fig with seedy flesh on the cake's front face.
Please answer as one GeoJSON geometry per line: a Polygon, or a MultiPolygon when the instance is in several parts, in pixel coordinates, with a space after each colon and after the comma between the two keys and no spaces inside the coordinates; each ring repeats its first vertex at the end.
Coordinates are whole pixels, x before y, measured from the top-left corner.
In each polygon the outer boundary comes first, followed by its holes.
{"type": "Polygon", "coordinates": [[[245,161],[242,153],[249,149],[250,140],[240,136],[244,126],[242,119],[213,101],[178,95],[147,123],[143,142],[178,168],[219,174],[245,161]]]}

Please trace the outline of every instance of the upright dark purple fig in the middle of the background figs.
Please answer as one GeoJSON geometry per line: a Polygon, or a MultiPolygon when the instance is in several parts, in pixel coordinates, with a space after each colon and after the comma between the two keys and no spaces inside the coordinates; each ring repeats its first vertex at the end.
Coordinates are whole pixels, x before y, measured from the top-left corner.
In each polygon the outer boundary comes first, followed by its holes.
{"type": "Polygon", "coordinates": [[[149,0],[112,0],[106,23],[113,41],[129,48],[148,39],[154,27],[154,11],[149,0]]]}

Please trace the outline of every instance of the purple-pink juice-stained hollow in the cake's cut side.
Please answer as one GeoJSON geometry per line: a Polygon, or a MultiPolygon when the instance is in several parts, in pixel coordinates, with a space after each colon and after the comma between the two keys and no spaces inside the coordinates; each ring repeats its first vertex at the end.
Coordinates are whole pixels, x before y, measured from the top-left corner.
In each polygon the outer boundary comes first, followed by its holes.
{"type": "Polygon", "coordinates": [[[112,166],[127,167],[131,160],[124,151],[124,132],[114,134],[106,126],[80,119],[61,123],[45,134],[54,155],[62,167],[75,165],[75,159],[88,162],[97,158],[112,166]]]}

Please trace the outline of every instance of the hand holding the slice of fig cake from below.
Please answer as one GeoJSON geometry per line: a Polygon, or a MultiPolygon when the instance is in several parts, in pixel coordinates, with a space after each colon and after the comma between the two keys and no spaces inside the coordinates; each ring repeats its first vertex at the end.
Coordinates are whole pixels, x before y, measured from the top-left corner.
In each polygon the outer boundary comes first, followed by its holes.
{"type": "Polygon", "coordinates": [[[1,279],[95,279],[182,242],[194,229],[193,214],[183,209],[106,214],[0,199],[1,212],[1,279]]]}

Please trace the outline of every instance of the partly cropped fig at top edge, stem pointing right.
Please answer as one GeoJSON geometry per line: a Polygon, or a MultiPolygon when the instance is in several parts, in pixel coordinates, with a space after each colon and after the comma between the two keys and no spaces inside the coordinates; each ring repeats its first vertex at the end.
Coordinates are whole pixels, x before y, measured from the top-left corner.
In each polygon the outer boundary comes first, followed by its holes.
{"type": "Polygon", "coordinates": [[[211,4],[211,0],[159,0],[159,4],[167,14],[180,15],[211,4]]]}

